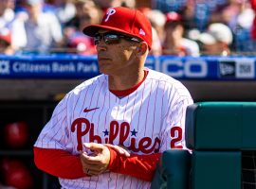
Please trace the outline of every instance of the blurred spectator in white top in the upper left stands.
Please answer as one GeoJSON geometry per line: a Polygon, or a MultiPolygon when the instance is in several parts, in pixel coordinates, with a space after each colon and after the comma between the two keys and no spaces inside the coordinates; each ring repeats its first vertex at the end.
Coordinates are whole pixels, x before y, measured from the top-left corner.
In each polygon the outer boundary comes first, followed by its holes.
{"type": "Polygon", "coordinates": [[[12,43],[17,50],[48,53],[63,43],[61,24],[51,12],[44,12],[44,0],[26,0],[27,13],[12,23],[12,43]]]}

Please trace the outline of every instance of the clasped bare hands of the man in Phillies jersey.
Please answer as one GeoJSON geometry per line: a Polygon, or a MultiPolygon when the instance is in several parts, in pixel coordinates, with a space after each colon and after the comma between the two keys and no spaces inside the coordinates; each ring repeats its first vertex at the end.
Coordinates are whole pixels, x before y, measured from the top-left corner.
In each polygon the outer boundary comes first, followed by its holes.
{"type": "Polygon", "coordinates": [[[82,170],[90,176],[100,175],[106,171],[110,162],[110,151],[108,147],[114,149],[119,155],[130,157],[130,153],[122,146],[97,143],[84,143],[83,146],[94,152],[91,155],[82,152],[80,155],[82,170]]]}

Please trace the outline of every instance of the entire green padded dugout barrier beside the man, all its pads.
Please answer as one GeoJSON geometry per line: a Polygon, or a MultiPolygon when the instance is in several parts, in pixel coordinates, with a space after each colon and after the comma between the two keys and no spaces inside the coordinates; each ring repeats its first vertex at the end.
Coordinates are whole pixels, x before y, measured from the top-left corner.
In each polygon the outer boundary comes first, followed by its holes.
{"type": "Polygon", "coordinates": [[[152,189],[241,189],[242,150],[256,150],[256,102],[198,102],[186,113],[186,145],[166,150],[152,189]]]}

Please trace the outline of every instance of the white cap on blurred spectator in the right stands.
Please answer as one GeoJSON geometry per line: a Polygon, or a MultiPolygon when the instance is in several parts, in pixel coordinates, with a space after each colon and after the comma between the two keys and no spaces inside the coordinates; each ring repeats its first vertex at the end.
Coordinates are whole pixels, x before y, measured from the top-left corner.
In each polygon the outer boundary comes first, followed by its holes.
{"type": "Polygon", "coordinates": [[[233,35],[229,26],[222,23],[214,23],[209,26],[207,32],[199,36],[198,40],[204,44],[213,44],[216,42],[230,44],[233,41],[233,35]]]}

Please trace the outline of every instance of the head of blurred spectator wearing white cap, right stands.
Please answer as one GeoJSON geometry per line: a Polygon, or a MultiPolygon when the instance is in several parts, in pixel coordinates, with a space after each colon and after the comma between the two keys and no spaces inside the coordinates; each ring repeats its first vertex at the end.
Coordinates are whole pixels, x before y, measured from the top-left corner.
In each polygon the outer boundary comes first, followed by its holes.
{"type": "Polygon", "coordinates": [[[228,56],[231,53],[229,45],[233,35],[229,26],[222,23],[210,24],[207,32],[202,33],[198,40],[202,43],[202,54],[228,56]]]}

